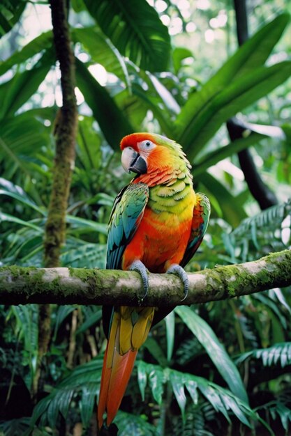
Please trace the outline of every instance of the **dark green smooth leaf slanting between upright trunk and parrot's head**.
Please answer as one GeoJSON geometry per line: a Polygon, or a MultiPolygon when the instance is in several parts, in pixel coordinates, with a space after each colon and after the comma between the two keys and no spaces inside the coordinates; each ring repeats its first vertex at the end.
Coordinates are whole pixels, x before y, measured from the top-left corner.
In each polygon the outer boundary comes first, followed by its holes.
{"type": "Polygon", "coordinates": [[[91,108],[107,142],[114,150],[118,150],[122,137],[133,133],[133,128],[106,89],[94,79],[82,62],[78,59],[75,61],[77,86],[91,108]]]}

